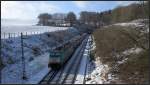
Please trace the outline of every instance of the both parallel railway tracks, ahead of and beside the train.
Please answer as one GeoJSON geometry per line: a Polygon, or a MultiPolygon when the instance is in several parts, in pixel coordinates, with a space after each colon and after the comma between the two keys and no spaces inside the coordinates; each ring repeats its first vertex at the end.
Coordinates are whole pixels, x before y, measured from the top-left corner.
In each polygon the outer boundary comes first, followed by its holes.
{"type": "Polygon", "coordinates": [[[60,70],[50,70],[50,72],[39,82],[39,84],[73,84],[78,73],[78,68],[80,61],[82,60],[82,54],[86,47],[86,43],[87,37],[79,46],[80,49],[75,51],[77,55],[73,55],[74,57],[72,56],[73,62],[71,62],[69,66],[66,66],[68,65],[67,62],[62,68],[60,68],[60,70]]]}

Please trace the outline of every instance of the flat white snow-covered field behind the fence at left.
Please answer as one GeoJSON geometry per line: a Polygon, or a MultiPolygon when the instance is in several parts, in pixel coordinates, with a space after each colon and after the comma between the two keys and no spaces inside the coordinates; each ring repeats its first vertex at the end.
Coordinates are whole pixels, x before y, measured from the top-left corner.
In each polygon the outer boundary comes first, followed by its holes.
{"type": "MultiPolygon", "coordinates": [[[[66,30],[69,27],[36,26],[37,20],[11,20],[1,19],[1,38],[8,38],[9,33],[13,37],[18,37],[18,33],[32,35],[34,33],[53,32],[66,30]],[[15,33],[15,35],[14,35],[15,33]]],[[[20,35],[19,35],[20,36],[20,35]]]]}

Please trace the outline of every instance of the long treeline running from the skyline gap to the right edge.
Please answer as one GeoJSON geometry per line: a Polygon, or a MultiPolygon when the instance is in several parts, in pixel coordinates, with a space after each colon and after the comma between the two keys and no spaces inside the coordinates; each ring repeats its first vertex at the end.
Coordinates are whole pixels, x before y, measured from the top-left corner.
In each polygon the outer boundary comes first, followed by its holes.
{"type": "Polygon", "coordinates": [[[149,3],[139,1],[128,6],[118,6],[103,12],[81,12],[80,21],[93,26],[102,26],[135,19],[149,18],[149,3]]]}

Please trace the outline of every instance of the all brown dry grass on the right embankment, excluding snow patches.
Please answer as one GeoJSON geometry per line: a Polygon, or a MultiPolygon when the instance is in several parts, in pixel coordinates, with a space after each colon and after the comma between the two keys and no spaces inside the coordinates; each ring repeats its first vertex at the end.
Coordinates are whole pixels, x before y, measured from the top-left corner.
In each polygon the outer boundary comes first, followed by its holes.
{"type": "Polygon", "coordinates": [[[143,48],[139,54],[131,54],[126,63],[119,66],[117,73],[125,83],[143,84],[148,82],[148,51],[145,44],[148,44],[147,37],[139,35],[138,30],[130,27],[109,26],[104,29],[97,29],[93,33],[96,42],[96,55],[104,64],[113,67],[116,59],[113,57],[133,47],[143,48]],[[143,42],[144,41],[144,42],[143,42]]]}

